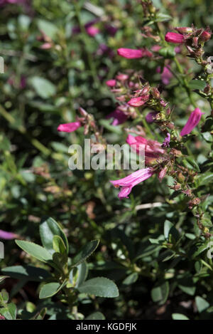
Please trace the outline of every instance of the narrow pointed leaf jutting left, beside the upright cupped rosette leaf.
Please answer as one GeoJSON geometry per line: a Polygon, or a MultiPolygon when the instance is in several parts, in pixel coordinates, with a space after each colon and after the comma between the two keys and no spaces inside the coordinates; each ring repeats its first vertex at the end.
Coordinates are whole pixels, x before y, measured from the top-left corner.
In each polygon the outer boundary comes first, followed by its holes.
{"type": "Polygon", "coordinates": [[[33,242],[16,240],[16,244],[23,249],[23,251],[26,251],[26,253],[30,254],[39,261],[48,262],[52,260],[51,254],[46,249],[34,244],[33,242]]]}

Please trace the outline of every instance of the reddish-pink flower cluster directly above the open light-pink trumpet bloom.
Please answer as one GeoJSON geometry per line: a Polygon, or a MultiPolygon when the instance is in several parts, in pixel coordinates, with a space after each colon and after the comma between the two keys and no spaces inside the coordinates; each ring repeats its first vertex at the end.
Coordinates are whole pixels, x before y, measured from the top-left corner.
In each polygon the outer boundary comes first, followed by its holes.
{"type": "Polygon", "coordinates": [[[140,153],[141,149],[145,150],[146,161],[147,158],[148,160],[149,158],[157,158],[165,153],[160,142],[157,142],[156,140],[147,140],[141,136],[133,137],[133,135],[128,135],[126,142],[130,146],[133,145],[133,150],[136,149],[137,153],[140,153]]]}

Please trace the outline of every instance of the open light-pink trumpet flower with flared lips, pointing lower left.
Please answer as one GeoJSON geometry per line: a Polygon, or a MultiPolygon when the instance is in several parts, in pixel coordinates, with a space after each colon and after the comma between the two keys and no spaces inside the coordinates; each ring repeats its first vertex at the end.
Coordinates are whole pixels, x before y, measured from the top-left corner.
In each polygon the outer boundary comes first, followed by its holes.
{"type": "Polygon", "coordinates": [[[110,181],[114,187],[121,187],[119,192],[119,198],[128,198],[131,193],[131,189],[136,186],[136,184],[143,182],[154,174],[153,168],[148,167],[144,169],[139,169],[136,172],[124,177],[123,179],[117,179],[115,181],[110,181]]]}

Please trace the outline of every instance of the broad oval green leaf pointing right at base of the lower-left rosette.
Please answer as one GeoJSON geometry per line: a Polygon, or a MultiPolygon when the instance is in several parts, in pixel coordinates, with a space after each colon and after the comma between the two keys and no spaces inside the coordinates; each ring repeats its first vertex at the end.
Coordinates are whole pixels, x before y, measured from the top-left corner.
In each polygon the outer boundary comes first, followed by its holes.
{"type": "Polygon", "coordinates": [[[88,293],[97,297],[115,298],[119,296],[119,289],[109,278],[97,277],[82,283],[78,288],[80,293],[88,293]]]}

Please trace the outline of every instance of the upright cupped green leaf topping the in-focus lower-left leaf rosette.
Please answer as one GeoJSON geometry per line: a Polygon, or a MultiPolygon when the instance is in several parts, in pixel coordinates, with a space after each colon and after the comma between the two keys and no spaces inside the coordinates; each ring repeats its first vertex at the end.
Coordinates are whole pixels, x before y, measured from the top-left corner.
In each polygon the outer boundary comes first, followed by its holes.
{"type": "Polygon", "coordinates": [[[60,225],[51,217],[44,217],[40,223],[40,239],[45,247],[48,249],[50,254],[53,254],[55,251],[53,249],[53,236],[60,236],[62,241],[64,241],[67,254],[69,252],[69,244],[67,241],[67,237],[64,232],[60,228],[60,225]]]}

